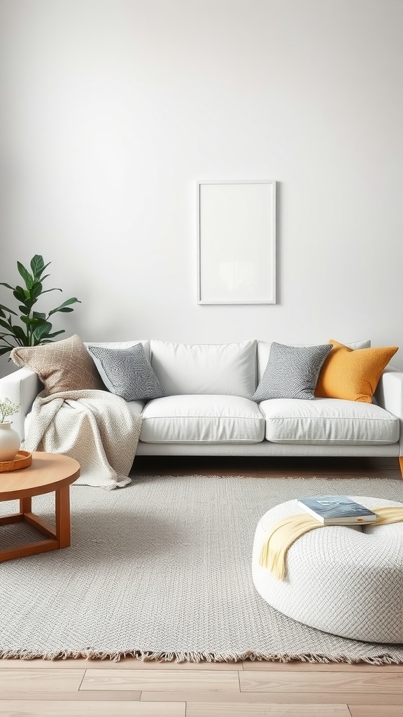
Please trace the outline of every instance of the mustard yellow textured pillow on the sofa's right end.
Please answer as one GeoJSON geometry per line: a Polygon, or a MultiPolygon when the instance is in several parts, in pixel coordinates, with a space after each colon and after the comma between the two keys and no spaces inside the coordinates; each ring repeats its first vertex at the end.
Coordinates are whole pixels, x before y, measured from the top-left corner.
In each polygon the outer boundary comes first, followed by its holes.
{"type": "Polygon", "coordinates": [[[333,348],[319,374],[316,397],[371,403],[381,373],[399,347],[354,349],[333,338],[328,343],[333,348]]]}

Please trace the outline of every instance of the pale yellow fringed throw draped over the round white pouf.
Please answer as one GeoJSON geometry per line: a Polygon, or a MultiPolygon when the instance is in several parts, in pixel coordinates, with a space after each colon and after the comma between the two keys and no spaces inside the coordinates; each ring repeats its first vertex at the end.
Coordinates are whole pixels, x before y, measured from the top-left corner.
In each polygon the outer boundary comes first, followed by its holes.
{"type": "MultiPolygon", "coordinates": [[[[371,526],[381,526],[386,523],[400,523],[403,521],[403,508],[371,508],[376,513],[376,521],[369,523],[371,526]]],[[[355,525],[355,523],[354,523],[355,525]]],[[[269,569],[278,579],[285,578],[286,557],[288,549],[293,543],[308,531],[315,528],[326,528],[308,513],[300,513],[297,516],[288,516],[270,526],[267,538],[260,551],[259,564],[269,569]]]]}

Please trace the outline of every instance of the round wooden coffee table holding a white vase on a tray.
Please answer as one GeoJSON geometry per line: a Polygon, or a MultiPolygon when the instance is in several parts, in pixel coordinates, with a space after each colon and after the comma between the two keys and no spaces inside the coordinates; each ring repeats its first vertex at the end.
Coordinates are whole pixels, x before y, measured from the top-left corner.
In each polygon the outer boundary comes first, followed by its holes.
{"type": "Polygon", "coordinates": [[[0,473],[0,502],[19,500],[19,513],[0,518],[0,526],[25,521],[46,539],[0,550],[0,563],[70,546],[70,483],[80,475],[80,463],[57,453],[32,453],[32,464],[0,473]],[[32,513],[32,496],[56,493],[55,525],[32,513]]]}

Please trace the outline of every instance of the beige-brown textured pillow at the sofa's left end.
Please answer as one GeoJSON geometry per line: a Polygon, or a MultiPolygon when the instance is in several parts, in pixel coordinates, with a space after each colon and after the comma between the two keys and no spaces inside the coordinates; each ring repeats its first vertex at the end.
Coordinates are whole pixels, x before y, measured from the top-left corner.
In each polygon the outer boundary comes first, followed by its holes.
{"type": "Polygon", "coordinates": [[[47,394],[80,389],[104,389],[95,363],[75,333],[42,346],[16,346],[10,353],[17,366],[28,366],[44,384],[47,394]]]}

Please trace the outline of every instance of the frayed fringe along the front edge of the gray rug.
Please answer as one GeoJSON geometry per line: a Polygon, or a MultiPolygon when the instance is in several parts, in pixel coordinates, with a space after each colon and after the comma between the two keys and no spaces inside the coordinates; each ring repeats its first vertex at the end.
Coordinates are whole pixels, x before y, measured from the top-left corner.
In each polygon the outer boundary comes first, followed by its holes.
{"type": "Polygon", "coordinates": [[[0,652],[0,660],[110,660],[118,663],[125,657],[135,657],[142,662],[158,662],[158,663],[237,663],[241,660],[250,660],[251,662],[272,662],[272,663],[347,663],[349,665],[359,665],[366,663],[368,665],[403,665],[403,658],[395,658],[392,655],[374,655],[373,657],[351,658],[346,655],[337,655],[328,657],[326,655],[307,654],[270,654],[265,652],[240,652],[239,654],[229,654],[228,652],[148,652],[147,650],[123,650],[122,652],[100,652],[98,650],[66,650],[57,652],[28,652],[26,650],[2,650],[0,652]]]}

